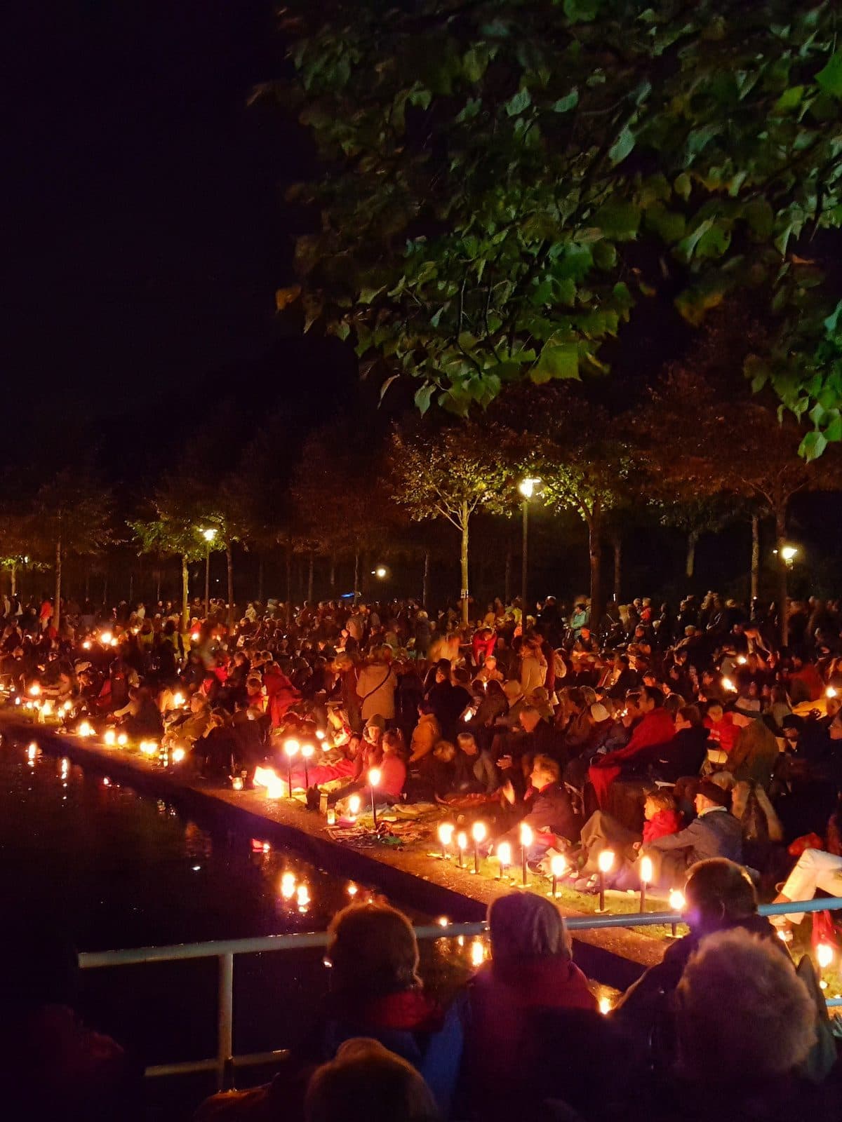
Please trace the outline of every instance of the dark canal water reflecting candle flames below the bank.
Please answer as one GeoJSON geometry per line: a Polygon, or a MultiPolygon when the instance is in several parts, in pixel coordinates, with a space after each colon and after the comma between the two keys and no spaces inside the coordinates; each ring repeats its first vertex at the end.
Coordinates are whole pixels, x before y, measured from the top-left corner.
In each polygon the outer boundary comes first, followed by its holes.
{"type": "MultiPolygon", "coordinates": [[[[350,900],[376,892],[7,736],[0,885],[16,914],[36,916],[80,950],[324,930],[350,900]]],[[[415,922],[434,918],[404,910],[415,922]]],[[[422,971],[442,995],[467,976],[472,950],[422,945],[422,971]]],[[[328,974],[321,951],[238,958],[235,1050],[303,1039],[328,974]]],[[[85,971],[82,981],[85,1019],[144,1065],[214,1055],[216,959],[85,971]]],[[[150,1093],[149,1118],[189,1116],[211,1089],[203,1077],[166,1083],[150,1093]]]]}

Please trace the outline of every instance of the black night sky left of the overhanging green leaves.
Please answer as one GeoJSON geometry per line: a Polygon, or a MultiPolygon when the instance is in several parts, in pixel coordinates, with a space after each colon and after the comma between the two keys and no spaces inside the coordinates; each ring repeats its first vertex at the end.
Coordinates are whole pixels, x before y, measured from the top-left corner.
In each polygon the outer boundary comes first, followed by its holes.
{"type": "MultiPolygon", "coordinates": [[[[11,6],[8,6],[9,8],[11,6]]],[[[179,385],[289,388],[280,338],[305,167],[272,0],[25,2],[3,17],[0,347],[43,422],[144,416],[179,385]]],[[[203,387],[203,388],[202,388],[203,387]]]]}

